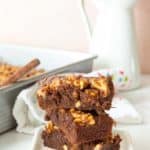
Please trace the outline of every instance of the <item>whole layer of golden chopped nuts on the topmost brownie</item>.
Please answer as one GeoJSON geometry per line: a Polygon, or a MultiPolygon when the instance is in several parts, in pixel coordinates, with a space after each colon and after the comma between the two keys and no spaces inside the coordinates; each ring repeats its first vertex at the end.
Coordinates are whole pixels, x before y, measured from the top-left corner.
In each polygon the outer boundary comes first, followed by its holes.
{"type": "MultiPolygon", "coordinates": [[[[80,99],[80,90],[87,94],[87,101],[98,99],[99,96],[107,97],[110,94],[109,79],[107,77],[82,77],[76,75],[56,76],[50,82],[43,85],[38,91],[38,95],[45,98],[50,90],[58,90],[58,87],[74,88],[72,96],[76,100],[80,99]],[[88,97],[89,96],[89,97],[88,97]]],[[[77,103],[77,107],[79,103],[77,103]]]]}

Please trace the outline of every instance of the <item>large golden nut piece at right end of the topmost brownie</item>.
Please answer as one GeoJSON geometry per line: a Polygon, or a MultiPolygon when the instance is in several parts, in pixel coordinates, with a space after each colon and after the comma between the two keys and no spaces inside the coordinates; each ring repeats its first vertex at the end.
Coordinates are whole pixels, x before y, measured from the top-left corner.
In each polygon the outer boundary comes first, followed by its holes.
{"type": "Polygon", "coordinates": [[[99,89],[102,91],[102,96],[106,97],[110,93],[110,89],[108,86],[108,79],[105,77],[92,78],[91,79],[91,87],[99,89]]]}

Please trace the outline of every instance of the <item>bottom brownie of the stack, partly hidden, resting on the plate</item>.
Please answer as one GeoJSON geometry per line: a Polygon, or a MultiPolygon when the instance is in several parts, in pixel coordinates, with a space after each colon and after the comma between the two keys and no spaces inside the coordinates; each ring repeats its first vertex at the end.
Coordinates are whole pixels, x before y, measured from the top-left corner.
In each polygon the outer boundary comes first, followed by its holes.
{"type": "Polygon", "coordinates": [[[42,139],[46,147],[56,150],[119,150],[121,141],[119,135],[116,135],[103,141],[96,140],[72,145],[64,133],[52,123],[47,124],[43,130],[42,139]]]}

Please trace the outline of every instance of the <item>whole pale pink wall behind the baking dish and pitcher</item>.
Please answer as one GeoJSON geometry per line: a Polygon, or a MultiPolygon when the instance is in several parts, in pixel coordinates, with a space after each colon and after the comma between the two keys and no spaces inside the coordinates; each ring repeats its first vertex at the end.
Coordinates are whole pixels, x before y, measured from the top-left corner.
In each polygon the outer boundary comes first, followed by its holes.
{"type": "MultiPolygon", "coordinates": [[[[0,0],[0,42],[86,51],[88,41],[78,0],[0,0]]],[[[86,3],[92,24],[96,9],[86,3]]],[[[150,73],[150,0],[135,8],[143,72],[150,73]]]]}

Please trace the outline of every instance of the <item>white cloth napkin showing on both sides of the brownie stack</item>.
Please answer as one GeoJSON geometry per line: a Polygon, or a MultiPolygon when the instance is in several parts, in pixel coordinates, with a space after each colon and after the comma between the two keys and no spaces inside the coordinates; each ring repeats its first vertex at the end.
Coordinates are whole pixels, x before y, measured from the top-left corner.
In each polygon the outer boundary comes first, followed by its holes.
{"type": "MultiPolygon", "coordinates": [[[[17,121],[17,131],[33,134],[34,129],[44,124],[44,111],[37,104],[36,90],[38,84],[23,90],[17,97],[13,116],[17,121]]],[[[126,98],[115,96],[112,108],[107,111],[120,124],[139,124],[142,118],[126,98]]]]}

